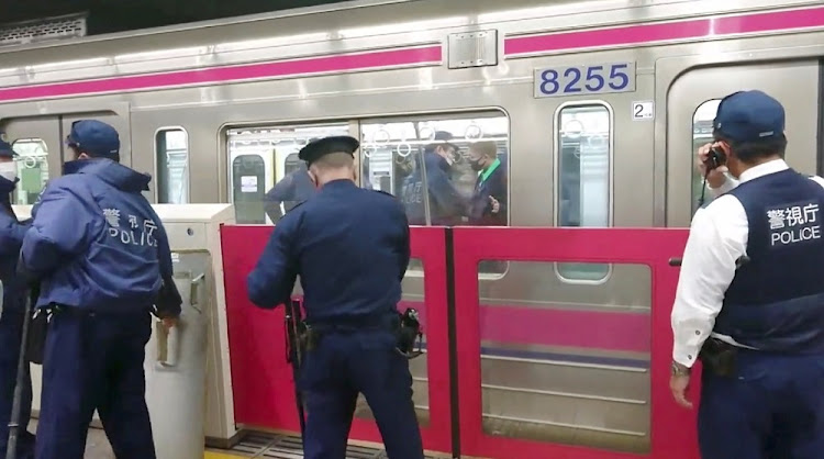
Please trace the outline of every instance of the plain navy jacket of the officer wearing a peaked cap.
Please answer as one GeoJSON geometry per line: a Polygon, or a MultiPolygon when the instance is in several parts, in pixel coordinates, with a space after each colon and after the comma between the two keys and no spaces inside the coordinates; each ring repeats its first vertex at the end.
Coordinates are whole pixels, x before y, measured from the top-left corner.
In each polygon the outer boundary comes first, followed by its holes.
{"type": "Polygon", "coordinates": [[[256,305],[275,307],[289,300],[300,276],[310,324],[379,318],[396,311],[409,257],[409,223],[398,200],[335,180],[280,220],[248,276],[248,294],[256,305]]]}

